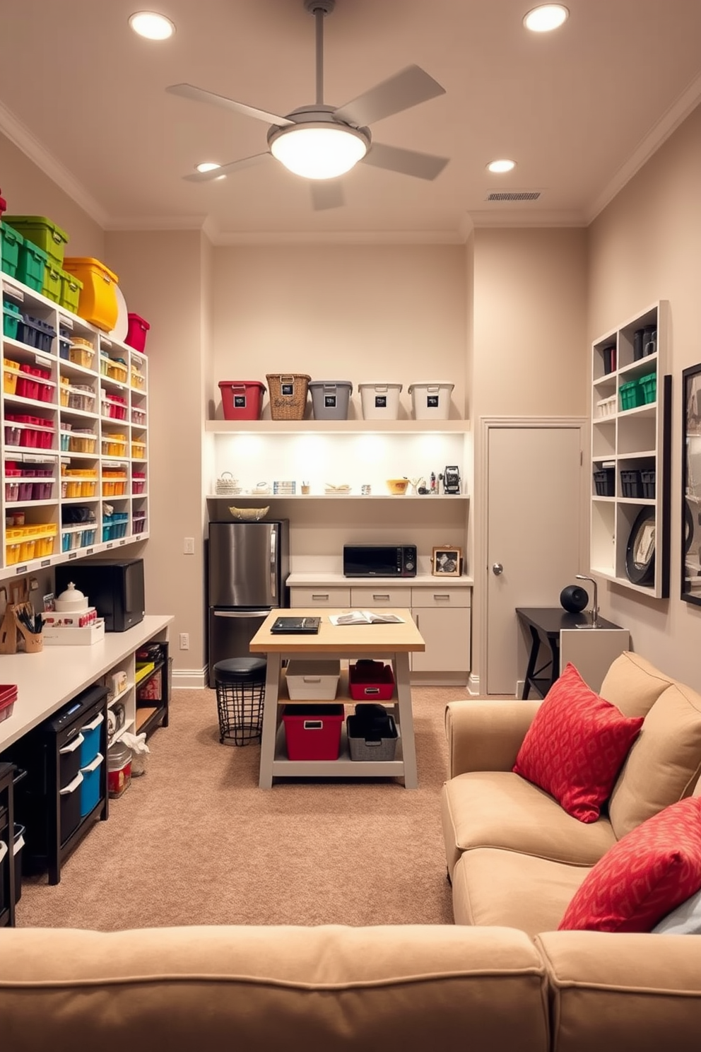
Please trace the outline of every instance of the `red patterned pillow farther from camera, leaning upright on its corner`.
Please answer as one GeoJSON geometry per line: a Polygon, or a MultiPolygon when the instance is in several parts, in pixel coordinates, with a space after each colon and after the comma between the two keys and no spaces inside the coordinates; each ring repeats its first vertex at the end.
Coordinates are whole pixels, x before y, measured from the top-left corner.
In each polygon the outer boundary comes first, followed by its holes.
{"type": "Polygon", "coordinates": [[[596,822],[642,722],[595,694],[569,663],[536,712],[513,770],[574,818],[596,822]]]}

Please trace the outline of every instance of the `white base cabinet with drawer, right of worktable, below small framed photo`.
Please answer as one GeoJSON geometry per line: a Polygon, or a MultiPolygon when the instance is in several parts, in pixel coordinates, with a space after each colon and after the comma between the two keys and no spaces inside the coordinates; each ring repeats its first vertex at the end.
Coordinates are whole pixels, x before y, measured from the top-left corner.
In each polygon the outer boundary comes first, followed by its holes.
{"type": "Polygon", "coordinates": [[[411,612],[426,650],[411,655],[412,672],[462,672],[471,668],[471,588],[412,588],[411,612]]]}

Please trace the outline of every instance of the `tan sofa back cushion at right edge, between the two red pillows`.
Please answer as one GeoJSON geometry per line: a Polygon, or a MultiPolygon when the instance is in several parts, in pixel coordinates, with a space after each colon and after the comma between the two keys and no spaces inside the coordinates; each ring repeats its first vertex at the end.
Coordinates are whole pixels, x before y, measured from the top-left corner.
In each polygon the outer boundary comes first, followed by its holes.
{"type": "Polygon", "coordinates": [[[701,695],[681,683],[645,716],[609,804],[618,839],[663,807],[688,796],[701,773],[701,695]]]}

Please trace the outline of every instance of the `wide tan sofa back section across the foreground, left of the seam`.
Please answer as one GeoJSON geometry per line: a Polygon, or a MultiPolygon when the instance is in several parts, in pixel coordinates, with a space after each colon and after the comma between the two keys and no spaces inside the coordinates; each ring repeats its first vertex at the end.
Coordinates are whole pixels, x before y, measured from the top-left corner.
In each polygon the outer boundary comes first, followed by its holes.
{"type": "Polygon", "coordinates": [[[544,972],[530,939],[503,928],[4,928],[1,1045],[542,1052],[544,972]]]}

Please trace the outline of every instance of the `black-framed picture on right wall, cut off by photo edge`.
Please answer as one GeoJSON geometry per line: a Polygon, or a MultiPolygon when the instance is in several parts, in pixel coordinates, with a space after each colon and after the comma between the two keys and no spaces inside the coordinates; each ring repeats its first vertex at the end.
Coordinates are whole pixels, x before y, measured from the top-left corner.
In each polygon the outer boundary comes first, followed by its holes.
{"type": "Polygon", "coordinates": [[[682,372],[681,598],[701,606],[701,364],[682,372]]]}

